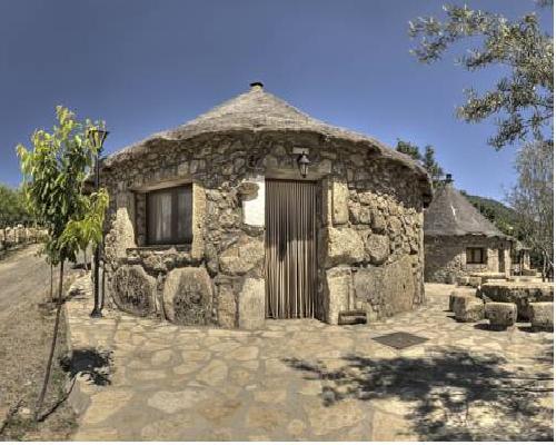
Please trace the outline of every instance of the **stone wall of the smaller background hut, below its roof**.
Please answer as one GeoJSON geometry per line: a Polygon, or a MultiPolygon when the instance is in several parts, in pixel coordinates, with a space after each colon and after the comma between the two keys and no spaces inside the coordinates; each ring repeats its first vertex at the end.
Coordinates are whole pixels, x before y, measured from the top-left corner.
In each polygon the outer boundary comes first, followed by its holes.
{"type": "Polygon", "coordinates": [[[456,283],[458,277],[471,273],[493,271],[510,274],[510,241],[484,236],[425,237],[425,281],[456,283]],[[485,264],[467,264],[467,247],[486,249],[485,264]],[[504,251],[504,264],[499,261],[499,250],[504,251]]]}

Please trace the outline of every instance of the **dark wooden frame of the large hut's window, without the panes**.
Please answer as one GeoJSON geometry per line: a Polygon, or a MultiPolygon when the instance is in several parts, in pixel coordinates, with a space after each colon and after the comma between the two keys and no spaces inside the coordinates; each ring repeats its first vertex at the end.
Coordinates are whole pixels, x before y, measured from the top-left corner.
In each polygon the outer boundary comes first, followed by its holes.
{"type": "Polygon", "coordinates": [[[193,243],[193,185],[192,184],[181,184],[179,186],[173,186],[173,187],[163,187],[163,188],[158,188],[153,190],[146,191],[145,194],[145,245],[146,246],[170,246],[170,245],[191,245],[193,243]],[[178,236],[178,217],[177,217],[177,208],[178,208],[178,194],[180,190],[188,190],[189,191],[189,197],[190,197],[190,202],[191,202],[191,210],[190,210],[190,237],[188,238],[187,236],[179,237],[178,236]],[[171,234],[172,237],[168,240],[163,241],[153,241],[151,240],[151,234],[150,234],[150,228],[149,228],[149,220],[150,220],[150,199],[151,196],[158,195],[158,194],[171,194],[171,221],[170,221],[170,227],[171,227],[171,234]],[[176,216],[175,216],[176,215],[176,216]]]}

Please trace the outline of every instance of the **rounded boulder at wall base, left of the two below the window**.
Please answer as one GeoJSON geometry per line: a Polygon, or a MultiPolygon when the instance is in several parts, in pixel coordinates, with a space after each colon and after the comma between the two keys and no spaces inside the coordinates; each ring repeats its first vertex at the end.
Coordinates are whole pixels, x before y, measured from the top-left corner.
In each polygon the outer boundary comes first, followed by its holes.
{"type": "Polygon", "coordinates": [[[157,312],[157,280],[139,265],[121,266],[111,278],[112,300],[121,310],[145,317],[157,312]]]}

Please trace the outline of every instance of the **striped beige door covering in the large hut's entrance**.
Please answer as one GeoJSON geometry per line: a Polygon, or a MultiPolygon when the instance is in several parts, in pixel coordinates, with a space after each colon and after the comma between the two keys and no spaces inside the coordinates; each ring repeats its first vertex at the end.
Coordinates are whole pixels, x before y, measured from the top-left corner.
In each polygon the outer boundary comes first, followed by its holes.
{"type": "Polygon", "coordinates": [[[266,181],[266,315],[314,317],[317,298],[317,184],[266,181]]]}

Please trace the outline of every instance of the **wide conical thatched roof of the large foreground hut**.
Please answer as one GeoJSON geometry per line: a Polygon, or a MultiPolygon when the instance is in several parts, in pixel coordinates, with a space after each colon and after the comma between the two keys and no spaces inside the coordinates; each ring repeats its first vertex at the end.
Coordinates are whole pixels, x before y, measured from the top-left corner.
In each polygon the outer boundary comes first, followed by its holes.
{"type": "Polygon", "coordinates": [[[400,162],[416,172],[423,182],[424,195],[430,194],[430,181],[426,170],[408,156],[397,152],[376,139],[327,125],[291,107],[284,100],[265,91],[260,83],[230,99],[198,118],[175,129],[161,131],[149,138],[126,147],[110,156],[105,166],[112,166],[149,151],[157,141],[186,140],[199,135],[230,134],[239,131],[261,132],[312,132],[329,139],[341,139],[367,146],[385,158],[400,162]]]}

